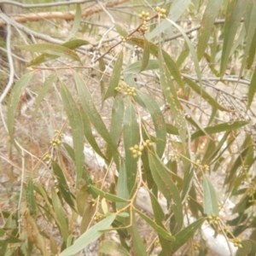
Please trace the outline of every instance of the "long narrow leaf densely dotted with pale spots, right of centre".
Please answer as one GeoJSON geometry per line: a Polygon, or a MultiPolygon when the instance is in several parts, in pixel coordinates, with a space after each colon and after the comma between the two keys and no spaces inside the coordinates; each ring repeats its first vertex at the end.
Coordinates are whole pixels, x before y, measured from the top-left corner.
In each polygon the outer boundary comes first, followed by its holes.
{"type": "Polygon", "coordinates": [[[159,61],[160,61],[160,84],[166,96],[166,100],[169,103],[172,118],[175,120],[175,126],[178,129],[179,138],[185,148],[187,126],[184,118],[182,106],[177,98],[177,92],[172,83],[171,73],[167,67],[166,61],[159,50],[159,61]]]}

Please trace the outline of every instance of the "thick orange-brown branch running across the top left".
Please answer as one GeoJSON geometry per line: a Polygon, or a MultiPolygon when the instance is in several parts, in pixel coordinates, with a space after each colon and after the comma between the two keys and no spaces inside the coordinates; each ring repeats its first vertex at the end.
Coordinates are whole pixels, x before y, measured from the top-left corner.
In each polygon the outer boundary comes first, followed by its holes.
{"type": "MultiPolygon", "coordinates": [[[[104,6],[106,8],[112,8],[113,6],[119,5],[121,3],[125,3],[128,0],[117,0],[113,2],[108,2],[104,6]]],[[[90,15],[94,15],[102,12],[102,7],[96,5],[88,10],[85,10],[82,13],[82,17],[85,18],[90,15]]],[[[15,15],[12,17],[13,20],[19,23],[26,23],[29,21],[39,21],[39,20],[73,20],[75,16],[75,11],[70,12],[42,12],[36,14],[28,14],[28,15],[15,15]]],[[[0,19],[0,26],[5,26],[5,22],[0,19]]]]}

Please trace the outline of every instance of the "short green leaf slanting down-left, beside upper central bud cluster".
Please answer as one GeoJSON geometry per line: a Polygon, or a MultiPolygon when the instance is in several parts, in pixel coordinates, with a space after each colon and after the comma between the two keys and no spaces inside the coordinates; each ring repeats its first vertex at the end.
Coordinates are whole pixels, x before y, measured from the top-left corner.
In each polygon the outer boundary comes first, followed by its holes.
{"type": "Polygon", "coordinates": [[[104,101],[115,93],[115,88],[119,85],[120,74],[123,66],[123,50],[120,51],[118,59],[115,61],[113,66],[112,76],[108,85],[108,90],[104,96],[104,101]]]}

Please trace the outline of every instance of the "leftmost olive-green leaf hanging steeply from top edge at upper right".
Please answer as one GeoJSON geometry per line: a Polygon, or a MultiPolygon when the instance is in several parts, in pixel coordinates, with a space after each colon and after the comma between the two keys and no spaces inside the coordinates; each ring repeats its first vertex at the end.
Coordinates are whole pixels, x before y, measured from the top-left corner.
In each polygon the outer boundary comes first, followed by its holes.
{"type": "Polygon", "coordinates": [[[218,9],[222,2],[222,0],[210,0],[207,3],[207,8],[201,20],[201,29],[199,31],[197,44],[197,57],[199,61],[207,48],[207,44],[212,33],[212,26],[217,18],[218,9]]]}

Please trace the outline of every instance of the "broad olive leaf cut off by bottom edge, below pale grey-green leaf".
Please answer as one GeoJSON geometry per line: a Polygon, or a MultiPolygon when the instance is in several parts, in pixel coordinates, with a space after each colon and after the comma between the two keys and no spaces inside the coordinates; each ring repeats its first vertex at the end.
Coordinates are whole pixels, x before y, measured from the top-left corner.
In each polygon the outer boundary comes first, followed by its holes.
{"type": "Polygon", "coordinates": [[[109,255],[130,256],[131,254],[115,241],[104,240],[101,242],[98,253],[109,255]]]}

